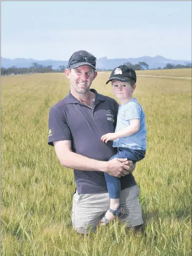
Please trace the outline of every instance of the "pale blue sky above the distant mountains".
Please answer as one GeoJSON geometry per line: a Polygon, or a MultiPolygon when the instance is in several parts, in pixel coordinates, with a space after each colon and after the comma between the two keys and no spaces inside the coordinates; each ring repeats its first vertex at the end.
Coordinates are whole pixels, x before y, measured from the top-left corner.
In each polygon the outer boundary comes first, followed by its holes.
{"type": "Polygon", "coordinates": [[[190,1],[5,1],[1,22],[4,58],[191,60],[190,1]]]}

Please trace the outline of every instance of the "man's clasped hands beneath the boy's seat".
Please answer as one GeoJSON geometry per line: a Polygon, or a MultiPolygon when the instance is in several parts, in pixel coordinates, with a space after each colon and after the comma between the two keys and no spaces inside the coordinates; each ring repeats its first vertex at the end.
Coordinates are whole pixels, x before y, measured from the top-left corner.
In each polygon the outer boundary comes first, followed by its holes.
{"type": "Polygon", "coordinates": [[[108,161],[106,173],[111,176],[120,178],[121,176],[125,176],[129,174],[129,170],[131,168],[132,161],[127,161],[126,158],[113,158],[108,161]]]}

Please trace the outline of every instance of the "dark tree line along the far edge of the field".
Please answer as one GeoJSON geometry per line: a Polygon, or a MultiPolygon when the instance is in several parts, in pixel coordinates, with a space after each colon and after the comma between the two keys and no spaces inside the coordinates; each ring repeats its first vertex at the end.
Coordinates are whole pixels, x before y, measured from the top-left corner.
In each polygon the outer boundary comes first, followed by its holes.
{"type": "MultiPolygon", "coordinates": [[[[133,70],[148,70],[149,65],[146,62],[139,62],[136,64],[131,64],[130,62],[125,62],[124,64],[132,67],[133,70]]],[[[33,74],[33,73],[61,73],[68,66],[60,65],[58,69],[53,69],[52,65],[44,66],[38,64],[37,62],[32,62],[32,66],[30,67],[1,67],[1,76],[8,76],[8,75],[23,75],[23,74],[33,74]]],[[[174,65],[171,63],[167,63],[165,67],[158,67],[157,70],[162,69],[191,69],[191,63],[187,65],[174,65]]],[[[112,71],[113,69],[97,69],[97,71],[112,71]]]]}

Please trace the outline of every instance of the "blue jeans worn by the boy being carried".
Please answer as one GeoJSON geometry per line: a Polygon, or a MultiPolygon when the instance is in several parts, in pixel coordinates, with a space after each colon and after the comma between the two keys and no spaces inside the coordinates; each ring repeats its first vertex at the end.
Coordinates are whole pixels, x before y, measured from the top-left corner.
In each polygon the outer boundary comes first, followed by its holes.
{"type": "MultiPolygon", "coordinates": [[[[117,149],[118,152],[114,154],[109,160],[113,158],[127,158],[127,160],[131,160],[133,163],[135,163],[139,162],[145,157],[145,150],[125,147],[118,147],[117,149]]],[[[109,192],[109,198],[120,198],[121,182],[119,178],[111,176],[107,173],[104,174],[109,192]]]]}

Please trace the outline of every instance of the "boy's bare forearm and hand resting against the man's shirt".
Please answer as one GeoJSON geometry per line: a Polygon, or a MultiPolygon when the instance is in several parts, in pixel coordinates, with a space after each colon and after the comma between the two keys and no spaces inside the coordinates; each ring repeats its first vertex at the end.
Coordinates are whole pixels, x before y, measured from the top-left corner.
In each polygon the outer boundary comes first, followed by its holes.
{"type": "Polygon", "coordinates": [[[139,130],[140,130],[140,119],[132,119],[130,120],[130,125],[128,127],[118,132],[104,134],[101,137],[101,140],[107,143],[108,141],[114,141],[118,138],[131,136],[137,133],[139,130]]]}

